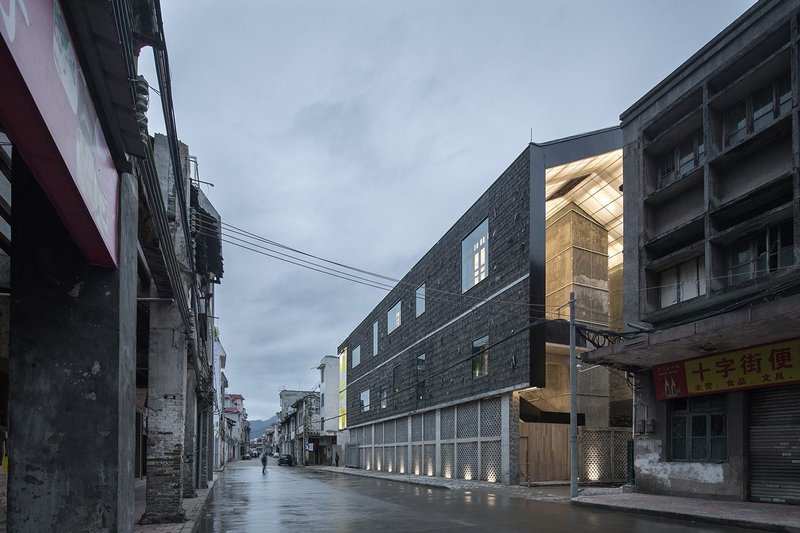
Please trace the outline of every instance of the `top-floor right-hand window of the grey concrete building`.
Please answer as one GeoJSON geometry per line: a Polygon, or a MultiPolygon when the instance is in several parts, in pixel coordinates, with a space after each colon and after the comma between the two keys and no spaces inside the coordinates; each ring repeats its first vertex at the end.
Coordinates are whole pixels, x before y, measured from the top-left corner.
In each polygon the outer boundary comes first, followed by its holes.
{"type": "Polygon", "coordinates": [[[792,109],[789,74],[773,80],[725,112],[725,145],[732,146],[762,130],[792,109]]]}

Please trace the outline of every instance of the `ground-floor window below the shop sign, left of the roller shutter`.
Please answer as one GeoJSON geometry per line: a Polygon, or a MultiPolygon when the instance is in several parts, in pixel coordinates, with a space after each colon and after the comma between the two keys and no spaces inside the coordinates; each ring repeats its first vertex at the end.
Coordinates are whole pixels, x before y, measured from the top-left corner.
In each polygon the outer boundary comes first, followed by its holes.
{"type": "Polygon", "coordinates": [[[728,459],[727,396],[670,402],[670,459],[722,462],[728,459]]]}

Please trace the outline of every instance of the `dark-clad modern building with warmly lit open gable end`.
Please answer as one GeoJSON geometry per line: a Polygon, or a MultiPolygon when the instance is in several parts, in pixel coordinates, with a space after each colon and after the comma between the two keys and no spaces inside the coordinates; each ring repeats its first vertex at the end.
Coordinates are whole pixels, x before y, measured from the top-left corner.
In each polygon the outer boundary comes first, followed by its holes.
{"type": "MultiPolygon", "coordinates": [[[[601,328],[619,307],[621,141],[529,145],[347,336],[348,466],[568,479],[566,307],[601,328]]],[[[608,427],[609,381],[581,373],[586,427],[608,427]]]]}

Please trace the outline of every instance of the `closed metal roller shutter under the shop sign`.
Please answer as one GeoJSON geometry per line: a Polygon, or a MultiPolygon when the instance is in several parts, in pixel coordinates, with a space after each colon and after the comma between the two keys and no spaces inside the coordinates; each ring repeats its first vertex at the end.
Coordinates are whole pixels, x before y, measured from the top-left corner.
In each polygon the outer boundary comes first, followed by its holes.
{"type": "Polygon", "coordinates": [[[800,505],[800,385],[750,392],[750,499],[800,505]]]}

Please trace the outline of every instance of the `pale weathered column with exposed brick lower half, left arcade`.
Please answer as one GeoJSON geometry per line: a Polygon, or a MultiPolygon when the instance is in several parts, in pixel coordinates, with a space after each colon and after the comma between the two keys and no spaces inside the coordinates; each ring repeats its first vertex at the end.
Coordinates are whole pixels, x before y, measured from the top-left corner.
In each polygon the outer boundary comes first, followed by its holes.
{"type": "Polygon", "coordinates": [[[175,304],[150,304],[147,496],[143,524],[182,522],[186,337],[175,304]]]}

